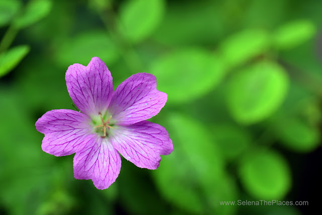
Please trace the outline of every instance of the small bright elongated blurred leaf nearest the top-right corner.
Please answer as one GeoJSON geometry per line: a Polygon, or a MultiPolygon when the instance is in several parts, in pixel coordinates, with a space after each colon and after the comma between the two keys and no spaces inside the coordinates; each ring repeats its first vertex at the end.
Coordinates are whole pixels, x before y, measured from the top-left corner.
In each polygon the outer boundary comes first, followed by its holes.
{"type": "Polygon", "coordinates": [[[309,20],[296,20],[281,26],[274,34],[277,48],[291,49],[311,39],[316,28],[309,20]]]}

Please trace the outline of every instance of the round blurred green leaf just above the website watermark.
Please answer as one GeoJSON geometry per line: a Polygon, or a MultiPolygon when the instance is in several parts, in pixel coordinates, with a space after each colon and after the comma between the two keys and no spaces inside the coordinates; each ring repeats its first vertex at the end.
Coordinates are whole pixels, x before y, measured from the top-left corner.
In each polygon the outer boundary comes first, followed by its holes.
{"type": "Polygon", "coordinates": [[[257,199],[282,199],[291,188],[291,174],[285,159],[274,151],[257,150],[239,164],[244,188],[257,199]]]}

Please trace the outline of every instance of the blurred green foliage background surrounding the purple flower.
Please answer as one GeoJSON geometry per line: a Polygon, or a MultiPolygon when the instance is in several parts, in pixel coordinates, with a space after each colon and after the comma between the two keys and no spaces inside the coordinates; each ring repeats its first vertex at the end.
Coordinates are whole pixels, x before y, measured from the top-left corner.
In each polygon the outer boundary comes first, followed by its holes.
{"type": "MultiPolygon", "coordinates": [[[[320,187],[322,1],[0,0],[0,214],[305,214],[320,187]],[[174,152],[122,160],[107,190],[41,150],[36,120],[73,109],[65,71],[100,57],[114,88],[152,73],[174,152]]],[[[316,202],[317,203],[317,202],[316,202]]]]}

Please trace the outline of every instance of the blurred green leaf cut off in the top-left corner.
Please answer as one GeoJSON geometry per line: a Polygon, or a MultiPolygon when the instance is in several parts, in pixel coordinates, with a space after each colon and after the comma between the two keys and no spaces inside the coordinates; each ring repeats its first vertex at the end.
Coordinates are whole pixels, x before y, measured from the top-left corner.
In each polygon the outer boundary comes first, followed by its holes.
{"type": "Polygon", "coordinates": [[[17,14],[21,7],[18,0],[0,1],[0,27],[5,26],[17,14]]]}

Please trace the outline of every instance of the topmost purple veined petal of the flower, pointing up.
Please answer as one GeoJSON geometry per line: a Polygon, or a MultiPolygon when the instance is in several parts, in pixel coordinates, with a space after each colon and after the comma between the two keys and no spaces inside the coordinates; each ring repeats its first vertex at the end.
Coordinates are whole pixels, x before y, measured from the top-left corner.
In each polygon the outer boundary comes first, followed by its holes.
{"type": "Polygon", "coordinates": [[[73,103],[87,115],[107,110],[113,93],[110,70],[98,57],[87,66],[74,63],[66,71],[66,85],[73,103]]]}

